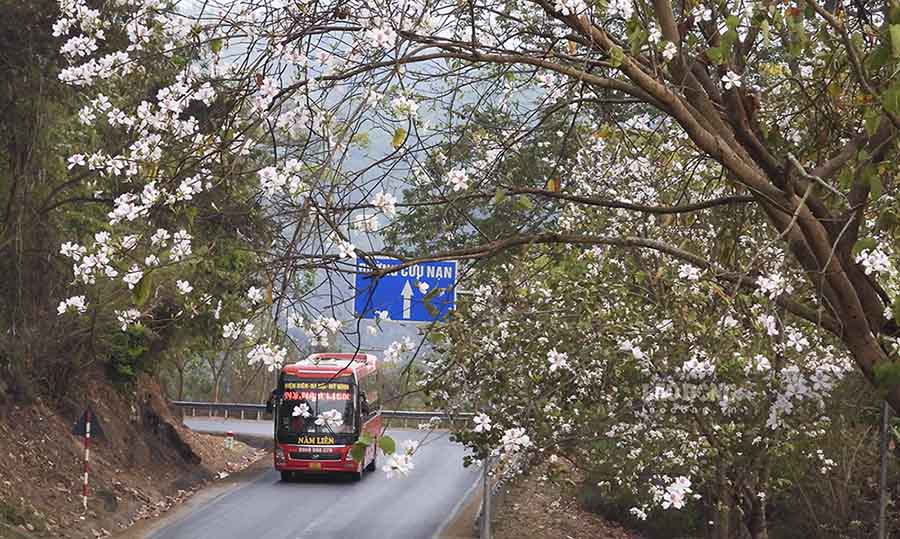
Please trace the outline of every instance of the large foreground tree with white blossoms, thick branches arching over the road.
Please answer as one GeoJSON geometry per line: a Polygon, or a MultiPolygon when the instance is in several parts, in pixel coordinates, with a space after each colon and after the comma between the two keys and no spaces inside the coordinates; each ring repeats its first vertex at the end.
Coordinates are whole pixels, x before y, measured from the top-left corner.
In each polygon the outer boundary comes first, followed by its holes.
{"type": "MultiPolygon", "coordinates": [[[[362,335],[333,308],[315,312],[301,277],[324,272],[333,295],[354,257],[397,254],[378,234],[402,213],[450,235],[420,238],[393,270],[477,267],[534,244],[656,253],[679,267],[652,274],[669,290],[703,277],[728,304],[762,294],[777,308],[745,313],[745,327],[793,335],[802,319],[829,332],[900,405],[893,3],[61,0],[53,32],[83,121],[108,133],[67,156],[73,181],[116,182],[108,236],[64,248],[86,287],[113,280],[141,297],[146,257],[177,267],[216,248],[198,244],[191,216],[220,211],[225,178],[249,177],[275,223],[256,245],[271,310],[321,342],[362,335]],[[177,73],[147,80],[160,64],[177,73]],[[548,123],[560,126],[552,140],[548,123]],[[527,174],[513,166],[522,156],[527,174]]],[[[186,278],[172,286],[193,305],[227,299],[186,278]]],[[[75,292],[61,312],[86,308],[75,292]]],[[[797,331],[798,343],[827,341],[797,331]]],[[[547,344],[553,374],[568,372],[574,355],[547,344]]],[[[262,363],[284,357],[260,346],[262,363]]],[[[659,488],[675,506],[689,487],[659,488]]]]}

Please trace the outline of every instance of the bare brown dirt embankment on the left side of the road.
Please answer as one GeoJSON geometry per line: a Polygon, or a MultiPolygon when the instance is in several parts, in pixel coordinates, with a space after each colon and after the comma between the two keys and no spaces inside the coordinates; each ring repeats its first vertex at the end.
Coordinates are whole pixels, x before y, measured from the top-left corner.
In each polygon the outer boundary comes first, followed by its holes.
{"type": "Polygon", "coordinates": [[[129,395],[96,383],[54,408],[40,400],[8,406],[0,410],[0,539],[109,536],[262,454],[185,429],[146,378],[129,395]],[[88,403],[104,436],[91,443],[85,513],[84,449],[72,427],[88,403]]]}

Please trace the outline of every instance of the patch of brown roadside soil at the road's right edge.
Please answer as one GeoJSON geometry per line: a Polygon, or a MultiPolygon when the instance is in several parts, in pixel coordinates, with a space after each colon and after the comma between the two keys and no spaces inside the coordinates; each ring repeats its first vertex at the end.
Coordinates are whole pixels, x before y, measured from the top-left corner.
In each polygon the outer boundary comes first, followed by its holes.
{"type": "Polygon", "coordinates": [[[586,511],[576,498],[581,474],[544,463],[502,485],[493,520],[496,539],[639,539],[618,524],[586,511]]]}

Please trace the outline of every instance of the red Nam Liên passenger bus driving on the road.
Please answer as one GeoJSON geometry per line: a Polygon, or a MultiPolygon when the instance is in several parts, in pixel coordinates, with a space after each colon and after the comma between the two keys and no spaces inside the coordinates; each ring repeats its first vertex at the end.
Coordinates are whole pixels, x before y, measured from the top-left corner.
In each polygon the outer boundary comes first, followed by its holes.
{"type": "Polygon", "coordinates": [[[298,473],[341,472],[362,479],[375,470],[381,432],[380,373],[371,354],[312,354],[282,367],[272,392],[275,469],[289,481],[298,473]],[[374,440],[362,462],[350,449],[366,434],[374,440]]]}

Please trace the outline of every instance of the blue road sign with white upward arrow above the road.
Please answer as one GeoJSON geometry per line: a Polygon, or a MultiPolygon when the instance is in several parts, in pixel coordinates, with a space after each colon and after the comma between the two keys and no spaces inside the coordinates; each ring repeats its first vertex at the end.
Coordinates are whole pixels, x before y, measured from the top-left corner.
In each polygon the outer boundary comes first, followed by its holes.
{"type": "MultiPolygon", "coordinates": [[[[394,258],[376,258],[379,268],[396,266],[394,258]]],[[[456,262],[422,262],[373,279],[365,261],[356,260],[356,316],[375,318],[387,311],[391,320],[433,322],[453,310],[456,262]],[[435,292],[437,291],[437,292],[435,292]]]]}

